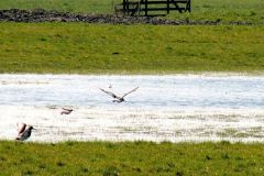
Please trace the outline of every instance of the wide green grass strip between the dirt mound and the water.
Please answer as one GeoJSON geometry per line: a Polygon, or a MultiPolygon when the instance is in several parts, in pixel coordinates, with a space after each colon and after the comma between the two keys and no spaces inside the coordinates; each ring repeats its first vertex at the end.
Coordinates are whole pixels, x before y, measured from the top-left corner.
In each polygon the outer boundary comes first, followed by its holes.
{"type": "Polygon", "coordinates": [[[264,70],[264,26],[0,23],[0,73],[264,70]]]}

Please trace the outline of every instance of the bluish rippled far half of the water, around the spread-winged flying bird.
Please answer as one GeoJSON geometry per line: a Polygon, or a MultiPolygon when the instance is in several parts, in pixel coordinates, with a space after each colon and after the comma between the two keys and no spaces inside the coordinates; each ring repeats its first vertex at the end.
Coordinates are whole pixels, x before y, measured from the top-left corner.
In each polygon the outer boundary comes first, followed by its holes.
{"type": "MultiPolygon", "coordinates": [[[[0,105],[113,106],[98,88],[122,95],[121,107],[263,108],[264,77],[0,75],[0,105]],[[109,89],[109,85],[112,88],[109,89]]],[[[117,105],[114,105],[117,106],[117,105]]]]}

